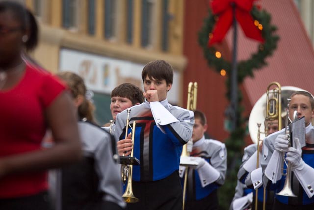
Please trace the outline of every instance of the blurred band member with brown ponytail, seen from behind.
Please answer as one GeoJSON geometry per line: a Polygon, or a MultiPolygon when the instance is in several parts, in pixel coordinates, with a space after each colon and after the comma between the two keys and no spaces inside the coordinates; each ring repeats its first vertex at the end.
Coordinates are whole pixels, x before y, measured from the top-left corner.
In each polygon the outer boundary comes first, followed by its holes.
{"type": "Polygon", "coordinates": [[[62,209],[121,210],[126,205],[121,197],[120,166],[113,159],[115,140],[89,121],[93,120],[93,105],[85,97],[83,79],[72,72],[58,76],[71,90],[84,151],[82,161],[62,168],[62,209]]]}

